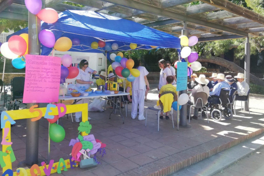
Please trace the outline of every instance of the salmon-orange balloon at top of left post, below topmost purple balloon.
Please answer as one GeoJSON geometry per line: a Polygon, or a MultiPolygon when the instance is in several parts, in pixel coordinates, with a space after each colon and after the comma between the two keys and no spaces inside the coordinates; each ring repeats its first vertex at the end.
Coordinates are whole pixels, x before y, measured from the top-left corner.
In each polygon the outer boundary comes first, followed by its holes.
{"type": "Polygon", "coordinates": [[[42,9],[37,16],[46,23],[55,23],[58,20],[58,13],[51,8],[42,9]]]}

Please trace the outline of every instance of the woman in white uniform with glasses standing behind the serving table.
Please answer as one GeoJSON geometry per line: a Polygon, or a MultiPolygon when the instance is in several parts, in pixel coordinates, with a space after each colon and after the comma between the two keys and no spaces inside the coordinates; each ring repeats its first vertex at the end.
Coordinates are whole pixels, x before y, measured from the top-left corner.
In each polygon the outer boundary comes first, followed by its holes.
{"type": "MultiPolygon", "coordinates": [[[[88,67],[88,61],[87,60],[81,60],[79,64],[79,74],[76,79],[76,87],[79,91],[85,91],[90,87],[90,85],[93,83],[90,81],[91,74],[96,74],[97,72],[95,70],[92,70],[88,67]]],[[[87,106],[89,105],[89,99],[81,99],[76,104],[82,104],[87,103],[87,106]]],[[[80,122],[80,117],[82,116],[82,112],[76,112],[75,113],[75,122],[80,122]]],[[[88,120],[91,120],[90,117],[88,117],[88,120]]]]}

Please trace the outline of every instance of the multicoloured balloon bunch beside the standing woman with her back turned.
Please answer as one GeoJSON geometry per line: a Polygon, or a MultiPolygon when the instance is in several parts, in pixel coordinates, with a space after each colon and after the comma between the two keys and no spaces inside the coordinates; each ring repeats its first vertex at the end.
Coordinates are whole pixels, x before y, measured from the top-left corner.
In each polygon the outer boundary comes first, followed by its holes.
{"type": "Polygon", "coordinates": [[[139,70],[133,68],[134,61],[123,57],[123,53],[119,52],[117,55],[112,53],[110,54],[110,59],[114,61],[112,63],[112,68],[120,79],[126,78],[128,81],[132,82],[140,75],[139,70]]]}

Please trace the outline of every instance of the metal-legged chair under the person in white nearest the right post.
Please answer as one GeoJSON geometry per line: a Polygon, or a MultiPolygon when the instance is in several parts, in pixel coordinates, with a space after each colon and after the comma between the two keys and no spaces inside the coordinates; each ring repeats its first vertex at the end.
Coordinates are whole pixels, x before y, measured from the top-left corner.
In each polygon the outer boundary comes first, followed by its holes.
{"type": "MultiPolygon", "coordinates": [[[[205,106],[206,104],[204,104],[204,102],[207,102],[208,99],[208,95],[205,92],[196,92],[194,94],[193,100],[194,101],[194,105],[190,106],[190,113],[189,113],[189,123],[190,123],[190,119],[191,119],[191,108],[205,108],[206,109],[206,116],[207,116],[207,123],[209,123],[209,119],[208,119],[208,109],[205,106]]],[[[201,118],[202,119],[202,112],[201,112],[201,118]]]]}

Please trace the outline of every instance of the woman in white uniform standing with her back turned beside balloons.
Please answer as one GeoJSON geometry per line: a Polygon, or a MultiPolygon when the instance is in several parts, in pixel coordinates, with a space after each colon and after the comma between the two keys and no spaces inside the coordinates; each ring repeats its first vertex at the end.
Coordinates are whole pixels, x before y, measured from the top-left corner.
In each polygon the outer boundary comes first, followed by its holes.
{"type": "Polygon", "coordinates": [[[139,66],[140,62],[134,60],[135,64],[133,68],[139,70],[140,75],[132,82],[132,119],[136,119],[138,114],[138,120],[145,120],[144,117],[144,99],[145,99],[145,90],[149,90],[149,83],[147,79],[148,71],[145,67],[139,66]],[[146,88],[147,85],[147,88],[146,88]],[[138,111],[137,111],[138,109],[138,111]]]}

